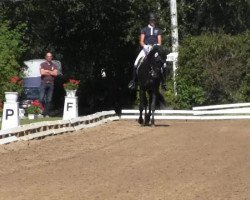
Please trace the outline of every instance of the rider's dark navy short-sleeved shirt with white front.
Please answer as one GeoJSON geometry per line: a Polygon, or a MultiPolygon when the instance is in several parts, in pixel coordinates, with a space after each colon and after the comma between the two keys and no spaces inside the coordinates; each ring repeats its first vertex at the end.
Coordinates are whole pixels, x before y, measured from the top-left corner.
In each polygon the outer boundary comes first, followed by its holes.
{"type": "Polygon", "coordinates": [[[141,34],[145,35],[145,44],[153,45],[158,43],[157,38],[158,35],[162,34],[162,30],[160,28],[148,25],[141,30],[141,34]]]}

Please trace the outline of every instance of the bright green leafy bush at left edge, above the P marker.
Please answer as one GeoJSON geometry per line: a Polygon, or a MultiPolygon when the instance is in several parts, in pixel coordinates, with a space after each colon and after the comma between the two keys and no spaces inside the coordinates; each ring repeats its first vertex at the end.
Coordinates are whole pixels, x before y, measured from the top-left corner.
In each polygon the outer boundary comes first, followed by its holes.
{"type": "Polygon", "coordinates": [[[19,63],[26,51],[23,27],[11,28],[9,22],[0,22],[0,99],[4,99],[6,91],[22,91],[23,69],[19,63]]]}

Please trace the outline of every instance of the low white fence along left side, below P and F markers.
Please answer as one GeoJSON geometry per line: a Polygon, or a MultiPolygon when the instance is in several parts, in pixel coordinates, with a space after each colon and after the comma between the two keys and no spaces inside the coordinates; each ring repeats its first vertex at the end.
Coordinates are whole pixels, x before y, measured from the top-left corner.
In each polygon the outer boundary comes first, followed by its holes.
{"type": "Polygon", "coordinates": [[[115,111],[102,111],[92,115],[77,117],[71,120],[43,121],[18,126],[0,131],[0,144],[15,141],[40,139],[46,136],[73,132],[84,128],[98,126],[109,121],[119,120],[115,111]]]}

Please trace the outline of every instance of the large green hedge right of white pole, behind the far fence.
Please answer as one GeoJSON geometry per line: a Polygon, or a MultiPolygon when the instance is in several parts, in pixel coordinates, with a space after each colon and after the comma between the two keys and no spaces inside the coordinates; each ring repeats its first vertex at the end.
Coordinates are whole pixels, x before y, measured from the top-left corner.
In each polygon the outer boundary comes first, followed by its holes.
{"type": "Polygon", "coordinates": [[[249,99],[250,34],[188,37],[180,48],[176,104],[245,102],[249,99]]]}

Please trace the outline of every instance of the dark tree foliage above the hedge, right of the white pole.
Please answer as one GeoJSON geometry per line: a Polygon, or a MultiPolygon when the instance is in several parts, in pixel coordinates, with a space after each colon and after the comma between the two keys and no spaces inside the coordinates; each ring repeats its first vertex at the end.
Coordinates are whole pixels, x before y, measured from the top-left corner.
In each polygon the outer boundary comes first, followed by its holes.
{"type": "Polygon", "coordinates": [[[178,21],[180,38],[205,32],[238,34],[250,27],[248,0],[180,0],[178,21]]]}

